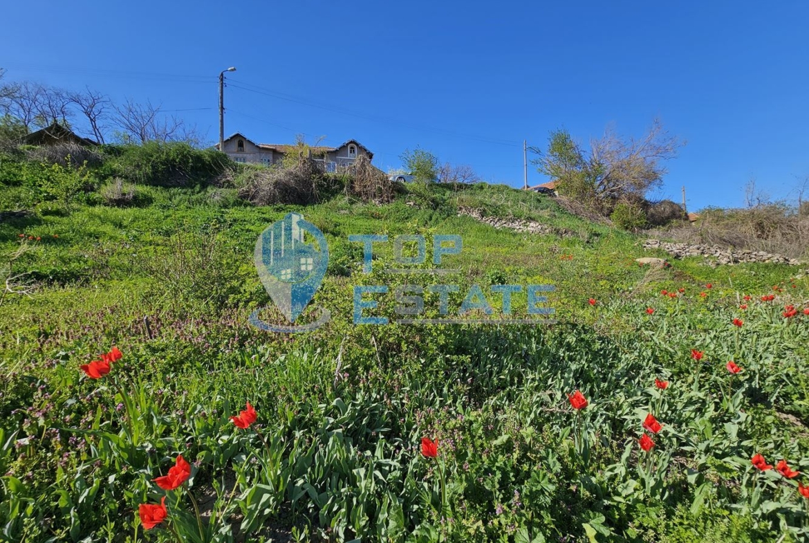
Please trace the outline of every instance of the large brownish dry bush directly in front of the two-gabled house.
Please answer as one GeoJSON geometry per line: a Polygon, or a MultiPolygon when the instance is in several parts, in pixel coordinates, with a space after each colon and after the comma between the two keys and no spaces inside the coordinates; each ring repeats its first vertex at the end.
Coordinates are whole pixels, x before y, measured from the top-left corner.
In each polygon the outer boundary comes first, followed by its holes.
{"type": "Polygon", "coordinates": [[[282,168],[244,168],[235,180],[239,197],[256,206],[317,202],[322,167],[309,157],[282,168]]]}

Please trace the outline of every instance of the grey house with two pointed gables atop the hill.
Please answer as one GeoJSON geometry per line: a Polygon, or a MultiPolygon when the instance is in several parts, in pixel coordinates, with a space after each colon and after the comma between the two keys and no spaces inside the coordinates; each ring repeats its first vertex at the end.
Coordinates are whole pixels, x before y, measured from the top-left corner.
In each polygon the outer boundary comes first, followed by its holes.
{"type": "MultiPolygon", "coordinates": [[[[256,143],[237,132],[224,141],[223,147],[225,154],[235,162],[272,166],[281,163],[284,155],[295,146],[286,143],[256,143]]],[[[219,148],[219,144],[216,144],[216,148],[219,148]]],[[[368,160],[374,158],[374,154],[355,139],[349,139],[337,147],[311,146],[310,150],[316,161],[324,162],[326,172],[336,172],[338,168],[350,166],[361,155],[368,157],[368,160]]]]}

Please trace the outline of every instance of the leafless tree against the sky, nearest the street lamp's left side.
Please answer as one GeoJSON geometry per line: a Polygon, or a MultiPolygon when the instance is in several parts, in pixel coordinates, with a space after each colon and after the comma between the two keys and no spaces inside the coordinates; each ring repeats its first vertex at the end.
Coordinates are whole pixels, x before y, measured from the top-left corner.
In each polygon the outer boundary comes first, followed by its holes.
{"type": "Polygon", "coordinates": [[[123,139],[139,143],[157,141],[181,141],[188,135],[184,122],[176,117],[167,117],[160,113],[160,106],[150,101],[138,104],[126,100],[121,106],[113,106],[115,115],[112,124],[121,130],[123,139]]]}

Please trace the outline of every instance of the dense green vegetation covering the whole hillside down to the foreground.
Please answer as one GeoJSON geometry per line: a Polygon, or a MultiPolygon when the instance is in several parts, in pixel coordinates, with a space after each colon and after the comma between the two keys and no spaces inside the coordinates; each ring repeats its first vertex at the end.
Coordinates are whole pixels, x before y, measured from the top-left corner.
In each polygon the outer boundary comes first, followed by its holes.
{"type": "Polygon", "coordinates": [[[787,477],[809,471],[809,278],[794,267],[650,269],[634,258],[663,255],[635,236],[502,186],[252,206],[241,172],[184,146],[42,160],[0,159],[6,275],[39,286],[0,303],[0,541],[807,537],[809,478],[787,477]],[[116,183],[132,197],[105,197],[116,183]],[[269,305],[253,248],[290,211],[328,240],[311,306],[332,320],[267,333],[248,324],[269,305]],[[463,235],[451,308],[473,284],[552,283],[557,324],[354,325],[354,285],[447,282],[386,273],[388,246],[362,274],[348,236],[383,233],[463,235]],[[81,369],[113,346],[108,373],[81,369]],[[167,518],[141,511],[163,498],[167,518]]]}

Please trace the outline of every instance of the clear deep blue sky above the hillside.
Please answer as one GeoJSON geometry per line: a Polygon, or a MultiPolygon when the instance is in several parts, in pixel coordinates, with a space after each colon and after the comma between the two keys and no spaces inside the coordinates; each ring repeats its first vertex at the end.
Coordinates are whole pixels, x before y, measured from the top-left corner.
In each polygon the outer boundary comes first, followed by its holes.
{"type": "Polygon", "coordinates": [[[6,80],[208,108],[176,114],[211,142],[216,78],[236,66],[226,134],[355,138],[386,170],[421,146],[521,186],[523,139],[641,135],[659,117],[688,145],[656,196],[685,185],[691,210],[742,205],[752,178],[794,196],[809,176],[803,0],[43,1],[5,2],[2,18],[6,80]]]}

